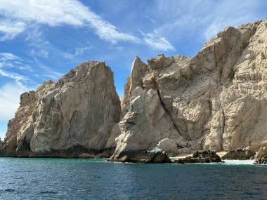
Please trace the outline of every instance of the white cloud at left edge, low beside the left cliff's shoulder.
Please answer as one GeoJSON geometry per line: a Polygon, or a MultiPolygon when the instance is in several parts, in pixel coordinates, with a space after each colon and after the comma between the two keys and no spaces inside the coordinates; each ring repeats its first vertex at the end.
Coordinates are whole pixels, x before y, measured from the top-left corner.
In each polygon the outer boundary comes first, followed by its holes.
{"type": "Polygon", "coordinates": [[[0,88],[0,121],[8,121],[15,116],[20,105],[20,94],[30,91],[20,82],[6,84],[0,88]]]}

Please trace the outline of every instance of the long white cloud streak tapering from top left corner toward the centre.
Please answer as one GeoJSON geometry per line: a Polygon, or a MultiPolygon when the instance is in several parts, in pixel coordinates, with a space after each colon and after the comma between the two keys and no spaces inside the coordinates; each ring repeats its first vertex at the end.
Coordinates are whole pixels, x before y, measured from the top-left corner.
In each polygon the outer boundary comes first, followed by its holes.
{"type": "MultiPolygon", "coordinates": [[[[167,38],[160,36],[159,33],[157,36],[155,33],[148,33],[142,38],[119,30],[115,25],[104,20],[100,15],[77,0],[43,0],[38,1],[38,3],[30,0],[1,0],[0,14],[4,16],[2,21],[4,26],[2,29],[0,28],[0,32],[4,33],[2,40],[15,38],[15,36],[24,32],[26,27],[34,23],[51,27],[63,25],[89,27],[100,39],[112,44],[117,44],[119,41],[130,41],[136,44],[147,44],[161,51],[174,49],[167,38]],[[15,23],[12,23],[15,26],[8,29],[8,24],[11,21],[15,21],[15,23]],[[159,39],[158,44],[152,44],[155,39],[159,39]]],[[[155,22],[152,18],[145,16],[151,22],[155,22]]],[[[36,33],[30,35],[30,37],[41,38],[38,34],[34,34],[36,33]]],[[[33,53],[36,52],[33,51],[33,53]]],[[[43,52],[42,54],[47,55],[47,53],[43,52]]]]}

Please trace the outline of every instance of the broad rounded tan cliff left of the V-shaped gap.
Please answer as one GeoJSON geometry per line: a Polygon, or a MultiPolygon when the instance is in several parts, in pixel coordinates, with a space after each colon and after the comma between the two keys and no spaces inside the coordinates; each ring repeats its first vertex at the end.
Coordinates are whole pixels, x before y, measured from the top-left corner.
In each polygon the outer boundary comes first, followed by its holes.
{"type": "Polygon", "coordinates": [[[110,156],[116,147],[112,130],[119,116],[110,68],[104,62],[84,62],[58,81],[44,82],[20,96],[0,155],[110,156]]]}

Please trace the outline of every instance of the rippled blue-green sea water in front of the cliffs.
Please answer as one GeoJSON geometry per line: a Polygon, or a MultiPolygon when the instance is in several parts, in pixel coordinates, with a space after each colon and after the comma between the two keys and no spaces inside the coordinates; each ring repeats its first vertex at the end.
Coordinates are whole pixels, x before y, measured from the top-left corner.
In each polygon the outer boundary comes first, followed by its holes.
{"type": "Polygon", "coordinates": [[[0,158],[0,199],[267,199],[267,166],[0,158]]]}

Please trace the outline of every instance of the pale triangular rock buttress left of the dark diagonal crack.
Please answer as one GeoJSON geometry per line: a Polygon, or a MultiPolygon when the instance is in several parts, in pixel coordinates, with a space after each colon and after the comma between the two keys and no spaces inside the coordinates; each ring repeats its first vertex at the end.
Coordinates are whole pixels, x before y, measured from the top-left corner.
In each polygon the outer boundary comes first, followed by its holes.
{"type": "Polygon", "coordinates": [[[134,160],[157,146],[162,138],[182,143],[169,114],[164,110],[157,91],[148,92],[141,87],[131,91],[131,112],[119,122],[121,134],[116,138],[117,147],[111,161],[134,160]]]}

